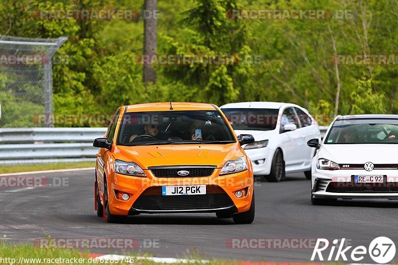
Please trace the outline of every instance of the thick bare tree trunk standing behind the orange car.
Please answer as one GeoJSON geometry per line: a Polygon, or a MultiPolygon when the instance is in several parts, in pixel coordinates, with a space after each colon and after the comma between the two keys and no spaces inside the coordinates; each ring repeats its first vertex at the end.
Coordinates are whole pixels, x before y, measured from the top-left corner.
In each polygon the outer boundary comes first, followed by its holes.
{"type": "MultiPolygon", "coordinates": [[[[144,13],[152,14],[157,10],[157,0],[145,0],[144,13]],[[150,10],[150,11],[146,11],[150,10]]],[[[157,46],[157,18],[144,17],[144,55],[156,55],[157,46]]],[[[156,82],[156,71],[151,64],[144,64],[143,70],[144,83],[156,82]]]]}

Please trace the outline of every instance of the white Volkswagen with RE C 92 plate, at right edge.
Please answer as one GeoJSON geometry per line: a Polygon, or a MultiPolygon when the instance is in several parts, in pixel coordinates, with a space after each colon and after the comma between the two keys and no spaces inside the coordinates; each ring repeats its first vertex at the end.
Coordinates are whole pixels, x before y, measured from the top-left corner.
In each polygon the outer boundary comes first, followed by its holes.
{"type": "Polygon", "coordinates": [[[398,199],[398,115],[337,116],[312,160],[311,202],[398,199]]]}

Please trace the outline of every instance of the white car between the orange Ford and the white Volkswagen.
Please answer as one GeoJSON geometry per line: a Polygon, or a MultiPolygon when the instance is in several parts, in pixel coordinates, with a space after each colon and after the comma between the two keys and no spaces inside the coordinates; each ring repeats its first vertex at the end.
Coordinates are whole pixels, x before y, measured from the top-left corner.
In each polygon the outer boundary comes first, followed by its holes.
{"type": "Polygon", "coordinates": [[[254,175],[269,181],[285,179],[285,173],[304,172],[311,178],[315,150],[307,141],[320,139],[319,126],[298,105],[279,102],[240,102],[221,106],[236,135],[251,134],[256,142],[244,150],[254,175]]]}

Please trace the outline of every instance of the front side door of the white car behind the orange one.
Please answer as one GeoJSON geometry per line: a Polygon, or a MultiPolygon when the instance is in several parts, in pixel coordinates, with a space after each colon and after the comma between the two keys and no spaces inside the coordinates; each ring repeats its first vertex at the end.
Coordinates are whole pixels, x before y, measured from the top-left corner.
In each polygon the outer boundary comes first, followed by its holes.
{"type": "Polygon", "coordinates": [[[302,167],[305,161],[305,157],[302,154],[305,137],[301,133],[301,123],[294,107],[287,107],[282,112],[280,137],[286,170],[297,170],[299,167],[302,167]],[[284,125],[288,123],[296,124],[297,129],[294,131],[284,131],[284,125]]]}

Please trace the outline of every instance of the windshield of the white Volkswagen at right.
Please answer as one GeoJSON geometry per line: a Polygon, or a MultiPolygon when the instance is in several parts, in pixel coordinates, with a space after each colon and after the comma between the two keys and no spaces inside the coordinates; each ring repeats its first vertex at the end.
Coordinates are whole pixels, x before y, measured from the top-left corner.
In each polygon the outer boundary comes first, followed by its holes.
{"type": "Polygon", "coordinates": [[[336,121],[325,144],[398,144],[398,120],[351,119],[336,121]]]}

